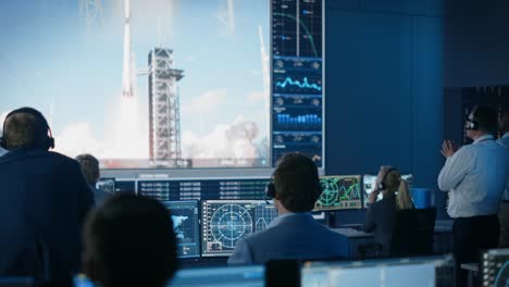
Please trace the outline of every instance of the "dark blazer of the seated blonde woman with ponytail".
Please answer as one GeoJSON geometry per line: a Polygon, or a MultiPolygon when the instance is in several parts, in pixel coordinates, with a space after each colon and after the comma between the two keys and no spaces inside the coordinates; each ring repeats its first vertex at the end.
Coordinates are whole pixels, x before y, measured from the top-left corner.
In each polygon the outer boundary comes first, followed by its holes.
{"type": "Polygon", "coordinates": [[[384,254],[389,252],[397,212],[395,195],[386,196],[368,208],[364,232],[374,232],[374,241],[382,245],[384,254]]]}

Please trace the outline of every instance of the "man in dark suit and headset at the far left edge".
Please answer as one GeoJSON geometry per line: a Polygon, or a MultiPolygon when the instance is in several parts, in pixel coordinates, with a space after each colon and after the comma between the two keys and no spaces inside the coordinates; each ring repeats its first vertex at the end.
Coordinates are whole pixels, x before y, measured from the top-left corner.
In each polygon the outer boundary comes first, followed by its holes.
{"type": "Polygon", "coordinates": [[[80,230],[94,204],[79,164],[54,148],[44,115],[9,113],[0,145],[0,276],[65,283],[80,262],[80,230]]]}

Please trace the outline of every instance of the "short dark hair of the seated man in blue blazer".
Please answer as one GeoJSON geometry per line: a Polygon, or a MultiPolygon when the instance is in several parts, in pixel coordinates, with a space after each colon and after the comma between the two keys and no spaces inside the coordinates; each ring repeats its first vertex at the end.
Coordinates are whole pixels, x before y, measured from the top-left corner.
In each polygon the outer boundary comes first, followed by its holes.
{"type": "Polygon", "coordinates": [[[308,212],[320,197],[320,178],[313,161],[300,153],[281,158],[274,172],[276,199],[291,212],[308,212]]]}

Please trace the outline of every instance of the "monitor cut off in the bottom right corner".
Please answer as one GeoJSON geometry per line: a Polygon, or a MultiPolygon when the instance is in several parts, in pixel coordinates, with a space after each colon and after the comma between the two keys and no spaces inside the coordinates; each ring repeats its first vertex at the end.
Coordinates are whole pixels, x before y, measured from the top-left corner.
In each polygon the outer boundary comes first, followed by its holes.
{"type": "Polygon", "coordinates": [[[492,249],[481,258],[481,286],[508,286],[509,249],[492,249]]]}

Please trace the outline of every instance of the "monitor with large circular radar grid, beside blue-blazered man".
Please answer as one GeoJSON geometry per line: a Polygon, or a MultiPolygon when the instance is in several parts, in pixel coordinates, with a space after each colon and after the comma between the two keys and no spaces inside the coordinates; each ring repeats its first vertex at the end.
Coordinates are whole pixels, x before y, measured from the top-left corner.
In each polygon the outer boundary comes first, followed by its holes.
{"type": "Polygon", "coordinates": [[[201,201],[201,255],[231,255],[240,238],[265,229],[276,216],[264,200],[201,201]]]}

